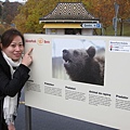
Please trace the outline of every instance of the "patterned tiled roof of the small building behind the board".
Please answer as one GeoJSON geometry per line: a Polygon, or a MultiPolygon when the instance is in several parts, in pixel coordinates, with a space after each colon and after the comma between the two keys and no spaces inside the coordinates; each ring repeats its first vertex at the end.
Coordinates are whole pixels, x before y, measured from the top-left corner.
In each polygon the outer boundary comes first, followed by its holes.
{"type": "Polygon", "coordinates": [[[81,2],[60,2],[55,9],[46,15],[44,17],[39,18],[40,21],[58,21],[58,20],[98,20],[91,15],[81,2]]]}

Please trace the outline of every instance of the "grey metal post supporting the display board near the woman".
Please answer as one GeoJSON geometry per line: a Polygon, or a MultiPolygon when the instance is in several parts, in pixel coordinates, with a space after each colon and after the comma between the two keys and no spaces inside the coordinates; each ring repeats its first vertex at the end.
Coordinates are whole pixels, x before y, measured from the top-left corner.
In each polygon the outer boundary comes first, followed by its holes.
{"type": "Polygon", "coordinates": [[[31,107],[25,105],[26,130],[31,130],[31,107]]]}

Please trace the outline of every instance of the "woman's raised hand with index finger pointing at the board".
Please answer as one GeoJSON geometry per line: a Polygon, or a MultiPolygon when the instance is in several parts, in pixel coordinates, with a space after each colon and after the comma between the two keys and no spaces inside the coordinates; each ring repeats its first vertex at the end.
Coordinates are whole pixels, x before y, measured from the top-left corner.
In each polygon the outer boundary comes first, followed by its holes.
{"type": "Polygon", "coordinates": [[[30,55],[31,52],[32,52],[32,48],[25,53],[22,60],[22,64],[24,64],[27,67],[32,63],[32,57],[30,55]]]}

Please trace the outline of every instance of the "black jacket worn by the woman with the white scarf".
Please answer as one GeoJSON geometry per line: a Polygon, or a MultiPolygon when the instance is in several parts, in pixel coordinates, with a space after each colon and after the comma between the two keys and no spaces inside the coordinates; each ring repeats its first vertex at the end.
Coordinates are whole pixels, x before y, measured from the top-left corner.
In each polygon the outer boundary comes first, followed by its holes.
{"type": "Polygon", "coordinates": [[[0,130],[4,130],[3,127],[3,99],[4,96],[15,96],[17,92],[21,92],[22,88],[24,87],[25,82],[29,78],[29,68],[25,65],[21,64],[14,75],[13,79],[11,79],[11,72],[10,66],[5,62],[0,51],[0,130]]]}

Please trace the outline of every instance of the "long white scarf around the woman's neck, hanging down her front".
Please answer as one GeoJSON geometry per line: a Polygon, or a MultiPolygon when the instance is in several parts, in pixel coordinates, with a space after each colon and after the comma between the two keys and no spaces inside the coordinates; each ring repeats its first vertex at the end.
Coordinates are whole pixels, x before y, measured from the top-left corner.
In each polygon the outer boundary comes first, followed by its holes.
{"type": "MultiPolygon", "coordinates": [[[[20,60],[18,62],[13,62],[10,57],[6,56],[6,54],[3,51],[2,54],[4,60],[10,66],[11,76],[13,78],[13,74],[15,72],[14,68],[16,68],[21,64],[22,60],[20,60]]],[[[17,115],[16,109],[17,109],[17,94],[14,98],[10,98],[6,95],[3,102],[3,117],[5,119],[6,125],[14,123],[14,116],[17,115]]]]}

